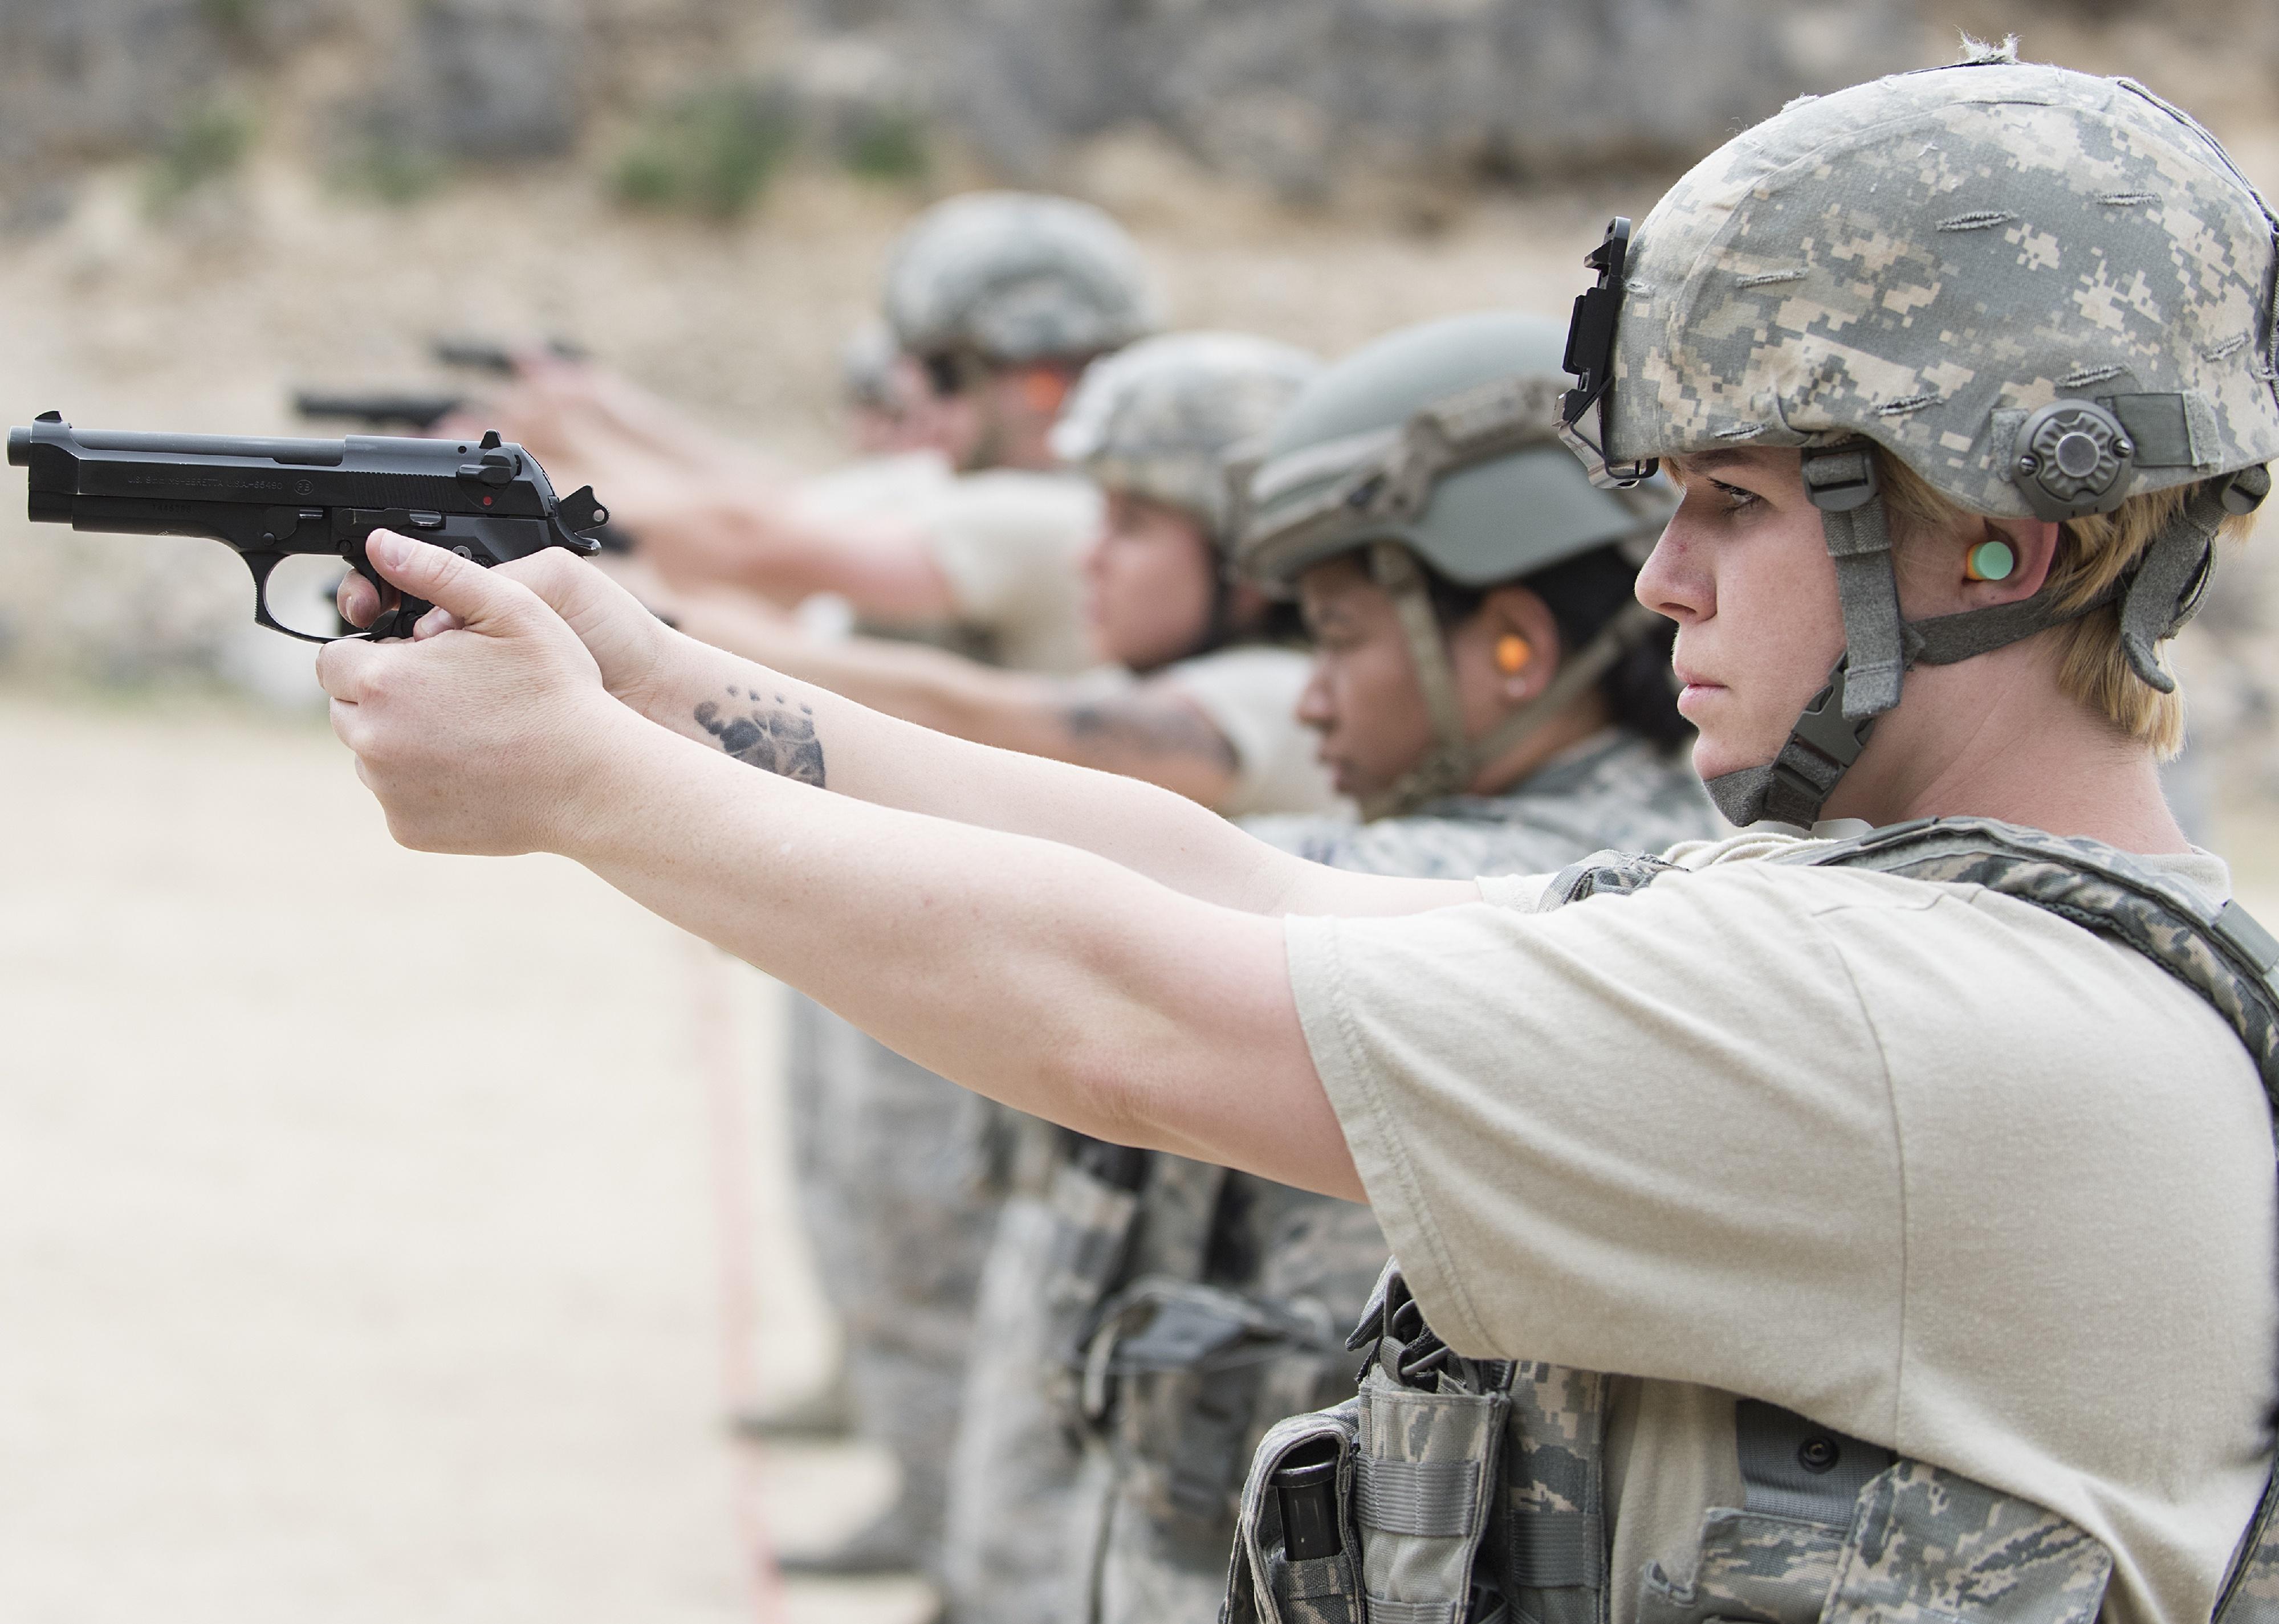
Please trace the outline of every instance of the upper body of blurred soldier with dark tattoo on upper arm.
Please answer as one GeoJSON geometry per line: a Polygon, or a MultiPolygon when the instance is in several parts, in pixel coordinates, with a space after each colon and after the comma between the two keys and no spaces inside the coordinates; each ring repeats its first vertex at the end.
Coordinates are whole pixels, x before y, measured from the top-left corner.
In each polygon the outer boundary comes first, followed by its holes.
{"type": "Polygon", "coordinates": [[[1253,440],[1320,362],[1240,333],[1178,333],[1105,358],[1053,433],[1105,494],[1087,615],[1108,665],[1007,672],[941,649],[814,638],[750,594],[661,599],[704,642],[873,711],[985,745],[1146,779],[1215,811],[1338,804],[1294,720],[1306,686],[1297,615],[1231,579],[1228,446],[1253,440]]]}

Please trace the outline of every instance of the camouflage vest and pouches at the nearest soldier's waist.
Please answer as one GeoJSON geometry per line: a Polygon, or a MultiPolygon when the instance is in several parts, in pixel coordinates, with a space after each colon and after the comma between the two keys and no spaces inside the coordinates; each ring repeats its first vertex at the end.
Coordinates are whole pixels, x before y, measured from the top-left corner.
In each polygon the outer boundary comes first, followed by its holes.
{"type": "MultiPolygon", "coordinates": [[[[1490,1604],[1541,1624],[1600,1624],[1609,1378],[1550,1364],[1438,1364],[1429,1358],[1438,1339],[1420,1321],[1386,1330],[1402,1323],[1406,1301],[1406,1285],[1388,1271],[1356,1332],[1374,1344],[1358,1399],[1290,1417],[1260,1442],[1242,1492],[1226,1624],[1463,1624],[1490,1604]],[[1320,1440],[1349,1462],[1340,1474],[1347,1551],[1335,1563],[1288,1563],[1269,1478],[1297,1446],[1320,1440]],[[1490,1508],[1481,1487],[1495,1478],[1504,1496],[1490,1508]]],[[[1810,1430],[1803,1417],[1741,1405],[1750,1408],[1810,1430]]],[[[1645,1569],[1639,1624],[2097,1619],[2113,1576],[2097,1540],[1953,1471],[1871,1453],[1889,1465],[1869,1467],[1873,1476],[1855,1492],[1807,1492],[1798,1503],[1750,1469],[1743,1444],[1748,1506],[1702,1515],[1684,1581],[1659,1563],[1645,1569]]],[[[1778,1465],[1796,1474],[1794,1460],[1778,1465]]]]}

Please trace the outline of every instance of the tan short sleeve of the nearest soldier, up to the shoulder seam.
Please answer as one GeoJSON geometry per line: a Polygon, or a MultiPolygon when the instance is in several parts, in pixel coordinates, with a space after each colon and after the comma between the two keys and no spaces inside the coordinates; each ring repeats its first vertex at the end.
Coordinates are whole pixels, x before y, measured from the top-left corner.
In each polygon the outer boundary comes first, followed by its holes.
{"type": "Polygon", "coordinates": [[[1454,1348],[1889,1392],[1889,1086],[1800,891],[1723,870],[1550,913],[1290,920],[1315,1068],[1454,1348]]]}

